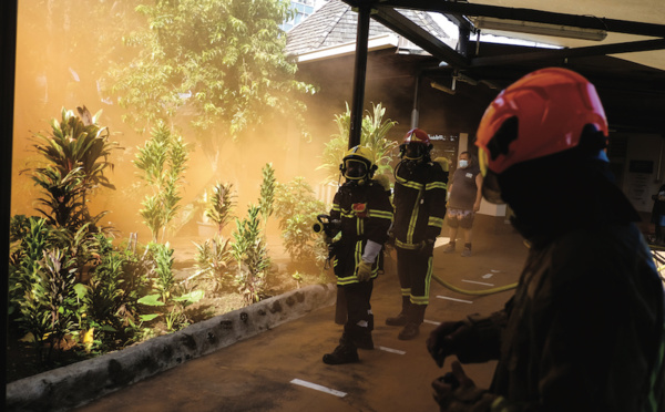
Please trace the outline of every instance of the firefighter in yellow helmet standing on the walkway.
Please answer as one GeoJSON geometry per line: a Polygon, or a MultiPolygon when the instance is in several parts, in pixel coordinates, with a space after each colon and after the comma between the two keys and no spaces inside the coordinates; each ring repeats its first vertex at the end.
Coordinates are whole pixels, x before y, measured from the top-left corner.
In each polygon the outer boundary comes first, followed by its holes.
{"type": "Polygon", "coordinates": [[[332,243],[337,287],[344,290],[347,320],[339,346],[324,354],[327,364],[358,362],[358,348],[374,349],[370,298],[379,272],[379,254],[392,222],[389,193],[372,175],[370,148],[349,150],[340,165],[346,178],[332,199],[330,220],[339,222],[340,238],[332,243]]]}

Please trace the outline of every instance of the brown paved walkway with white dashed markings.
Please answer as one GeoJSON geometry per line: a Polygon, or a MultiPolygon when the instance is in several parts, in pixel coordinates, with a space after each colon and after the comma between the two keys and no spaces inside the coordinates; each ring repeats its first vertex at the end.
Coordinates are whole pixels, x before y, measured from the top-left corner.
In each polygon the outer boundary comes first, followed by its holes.
{"type": "MultiPolygon", "coordinates": [[[[459,251],[443,254],[441,245],[448,239],[440,238],[434,275],[470,290],[515,282],[526,248],[511,229],[491,231],[477,234],[470,258],[460,257],[459,251]]],[[[400,341],[399,328],[385,325],[400,306],[391,259],[386,269],[372,296],[376,349],[360,351],[359,363],[332,367],[321,362],[341,334],[341,327],[334,322],[335,308],[326,307],[75,411],[438,411],[430,382],[446,373],[449,364],[437,368],[426,350],[427,336],[441,320],[500,309],[512,291],[471,296],[432,281],[421,334],[400,341]]],[[[469,365],[467,372],[487,387],[493,367],[493,362],[469,365]]]]}

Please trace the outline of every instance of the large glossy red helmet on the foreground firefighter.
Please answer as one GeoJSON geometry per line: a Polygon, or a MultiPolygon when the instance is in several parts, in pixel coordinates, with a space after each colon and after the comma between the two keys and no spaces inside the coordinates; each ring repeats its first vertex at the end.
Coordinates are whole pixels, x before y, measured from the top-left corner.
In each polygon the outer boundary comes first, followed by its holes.
{"type": "Polygon", "coordinates": [[[480,121],[475,145],[482,173],[501,174],[573,148],[589,124],[607,137],[605,111],[586,79],[560,68],[526,74],[499,93],[480,121]]]}

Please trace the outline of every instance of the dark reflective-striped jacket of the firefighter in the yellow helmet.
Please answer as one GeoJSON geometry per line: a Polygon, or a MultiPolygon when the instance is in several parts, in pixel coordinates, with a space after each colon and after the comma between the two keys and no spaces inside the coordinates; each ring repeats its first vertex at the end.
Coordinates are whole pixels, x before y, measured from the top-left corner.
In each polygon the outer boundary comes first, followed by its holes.
{"type": "MultiPolygon", "coordinates": [[[[392,205],[383,186],[369,181],[362,185],[345,183],[335,194],[330,219],[341,222],[341,238],[334,244],[332,266],[337,285],[358,282],[356,266],[360,262],[367,240],[383,245],[392,222],[392,205]]],[[[378,276],[377,258],[372,278],[378,276]]]]}

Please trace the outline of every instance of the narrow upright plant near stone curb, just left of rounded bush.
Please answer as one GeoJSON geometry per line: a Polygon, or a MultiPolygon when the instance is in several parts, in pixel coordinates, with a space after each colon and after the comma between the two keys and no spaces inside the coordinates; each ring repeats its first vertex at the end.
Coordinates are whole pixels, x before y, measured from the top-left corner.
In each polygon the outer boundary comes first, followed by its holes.
{"type": "Polygon", "coordinates": [[[247,217],[243,220],[236,218],[236,230],[233,233],[235,243],[232,254],[238,266],[236,282],[246,303],[262,299],[265,277],[270,267],[258,214],[258,206],[249,205],[247,217]]]}

